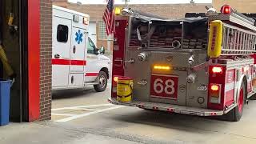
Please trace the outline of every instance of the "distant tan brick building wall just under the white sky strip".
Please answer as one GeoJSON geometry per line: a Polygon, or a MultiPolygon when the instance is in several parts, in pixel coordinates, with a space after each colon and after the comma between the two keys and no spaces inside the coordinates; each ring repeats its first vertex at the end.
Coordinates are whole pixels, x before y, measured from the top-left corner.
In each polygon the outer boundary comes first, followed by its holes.
{"type": "MultiPolygon", "coordinates": [[[[56,3],[58,5],[58,3],[56,3]]],[[[121,6],[123,5],[115,5],[121,6]]],[[[155,14],[164,18],[183,18],[186,13],[204,13],[206,12],[206,6],[211,7],[211,4],[144,4],[144,5],[129,5],[134,10],[139,10],[149,14],[155,14]]],[[[102,14],[106,8],[106,5],[82,5],[68,4],[66,8],[76,10],[90,15],[90,20],[97,22],[102,20],[102,14]]]]}

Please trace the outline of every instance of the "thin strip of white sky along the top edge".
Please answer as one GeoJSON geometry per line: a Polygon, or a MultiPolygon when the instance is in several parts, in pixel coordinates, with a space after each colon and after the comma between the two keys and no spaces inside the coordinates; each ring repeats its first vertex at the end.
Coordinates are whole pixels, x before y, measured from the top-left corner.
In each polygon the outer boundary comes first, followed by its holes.
{"type": "MultiPolygon", "coordinates": [[[[69,2],[82,2],[83,4],[105,4],[107,0],[69,0],[69,2]]],[[[177,4],[189,3],[190,0],[130,0],[130,4],[177,4]]],[[[212,0],[194,0],[195,3],[211,3],[212,0]]],[[[124,0],[115,0],[115,4],[123,4],[124,0]]]]}

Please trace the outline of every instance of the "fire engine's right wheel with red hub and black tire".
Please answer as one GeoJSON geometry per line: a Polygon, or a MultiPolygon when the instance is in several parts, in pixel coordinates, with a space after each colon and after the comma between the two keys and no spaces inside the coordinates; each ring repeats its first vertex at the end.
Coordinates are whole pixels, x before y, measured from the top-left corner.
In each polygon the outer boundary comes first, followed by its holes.
{"type": "Polygon", "coordinates": [[[246,98],[246,86],[245,83],[242,82],[240,87],[240,93],[238,95],[238,106],[236,106],[233,110],[231,110],[229,115],[229,120],[233,122],[238,122],[242,118],[242,111],[245,105],[245,98],[246,98]]]}

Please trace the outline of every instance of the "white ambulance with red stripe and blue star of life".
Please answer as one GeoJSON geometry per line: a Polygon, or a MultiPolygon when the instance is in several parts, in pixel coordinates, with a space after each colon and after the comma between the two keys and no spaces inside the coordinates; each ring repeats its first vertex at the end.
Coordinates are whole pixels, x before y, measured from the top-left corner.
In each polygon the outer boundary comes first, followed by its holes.
{"type": "Polygon", "coordinates": [[[106,90],[110,58],[88,38],[89,15],[53,6],[52,89],[106,90]]]}

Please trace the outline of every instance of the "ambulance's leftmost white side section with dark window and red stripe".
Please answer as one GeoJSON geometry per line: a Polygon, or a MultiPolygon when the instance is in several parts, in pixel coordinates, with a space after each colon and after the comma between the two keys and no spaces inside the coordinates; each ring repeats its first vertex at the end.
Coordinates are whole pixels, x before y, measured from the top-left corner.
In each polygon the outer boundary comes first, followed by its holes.
{"type": "Polygon", "coordinates": [[[72,21],[54,16],[52,51],[52,86],[68,86],[70,73],[70,37],[72,21]]]}

